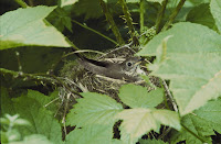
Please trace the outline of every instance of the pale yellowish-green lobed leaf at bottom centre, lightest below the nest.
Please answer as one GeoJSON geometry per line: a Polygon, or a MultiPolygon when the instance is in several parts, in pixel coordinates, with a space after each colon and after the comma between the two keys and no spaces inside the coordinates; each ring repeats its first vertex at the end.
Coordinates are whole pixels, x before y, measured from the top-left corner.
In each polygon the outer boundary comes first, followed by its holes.
{"type": "Polygon", "coordinates": [[[125,143],[136,143],[144,134],[151,130],[159,132],[160,124],[180,130],[179,117],[169,110],[128,109],[119,112],[116,119],[123,120],[120,139],[125,143]]]}

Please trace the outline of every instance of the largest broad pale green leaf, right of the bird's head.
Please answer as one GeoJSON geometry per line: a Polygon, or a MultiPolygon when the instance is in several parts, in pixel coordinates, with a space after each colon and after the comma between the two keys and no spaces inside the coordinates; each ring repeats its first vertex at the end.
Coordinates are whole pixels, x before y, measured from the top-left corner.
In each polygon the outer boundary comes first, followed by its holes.
{"type": "Polygon", "coordinates": [[[168,35],[166,59],[149,66],[151,75],[170,79],[180,114],[202,107],[221,95],[221,35],[192,23],[178,23],[155,36],[138,55],[158,55],[156,47],[168,35]]]}

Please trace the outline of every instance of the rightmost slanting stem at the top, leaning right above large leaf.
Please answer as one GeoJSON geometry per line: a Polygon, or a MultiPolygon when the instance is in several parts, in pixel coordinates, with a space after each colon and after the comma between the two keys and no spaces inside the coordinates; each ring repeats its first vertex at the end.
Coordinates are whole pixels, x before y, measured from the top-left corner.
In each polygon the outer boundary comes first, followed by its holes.
{"type": "Polygon", "coordinates": [[[170,24],[175,21],[175,18],[177,16],[179,11],[181,10],[182,5],[185,4],[185,1],[186,0],[180,0],[180,2],[178,3],[177,8],[175,9],[175,11],[169,16],[169,20],[167,21],[167,23],[162,27],[162,30],[161,30],[162,32],[166,31],[170,26],[170,24]]]}

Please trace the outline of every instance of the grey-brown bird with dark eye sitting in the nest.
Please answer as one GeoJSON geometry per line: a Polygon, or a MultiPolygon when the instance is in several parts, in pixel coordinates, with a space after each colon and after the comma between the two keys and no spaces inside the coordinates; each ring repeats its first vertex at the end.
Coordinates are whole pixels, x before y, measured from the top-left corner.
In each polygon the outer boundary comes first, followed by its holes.
{"type": "Polygon", "coordinates": [[[81,57],[78,63],[88,71],[102,75],[108,78],[122,79],[125,81],[138,81],[137,71],[140,70],[140,57],[129,57],[122,63],[113,63],[106,60],[94,60],[86,57],[81,57]]]}

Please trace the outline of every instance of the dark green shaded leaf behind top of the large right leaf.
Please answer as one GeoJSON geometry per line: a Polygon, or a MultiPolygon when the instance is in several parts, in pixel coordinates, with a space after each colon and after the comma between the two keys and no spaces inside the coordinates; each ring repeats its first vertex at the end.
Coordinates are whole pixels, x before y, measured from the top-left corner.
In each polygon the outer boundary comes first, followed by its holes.
{"type": "Polygon", "coordinates": [[[212,18],[212,14],[209,9],[209,3],[202,3],[190,10],[186,18],[186,21],[199,23],[210,29],[213,29],[215,26],[214,19],[212,18]]]}

